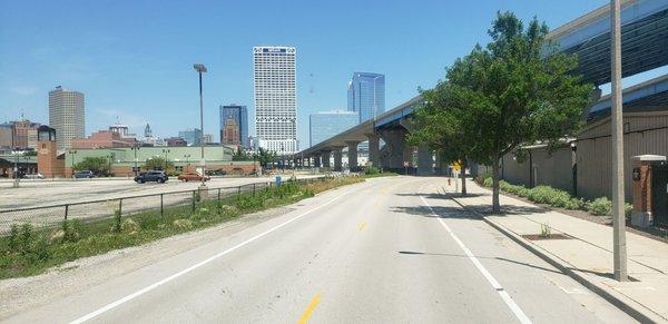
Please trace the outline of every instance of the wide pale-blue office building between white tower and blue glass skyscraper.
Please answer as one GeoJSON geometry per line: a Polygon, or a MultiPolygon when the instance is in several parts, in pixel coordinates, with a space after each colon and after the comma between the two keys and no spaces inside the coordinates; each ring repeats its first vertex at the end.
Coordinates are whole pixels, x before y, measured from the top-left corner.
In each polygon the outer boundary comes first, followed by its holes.
{"type": "Polygon", "coordinates": [[[310,146],[314,146],[336,134],[357,125],[357,112],[334,110],[311,115],[308,120],[310,146]]]}

